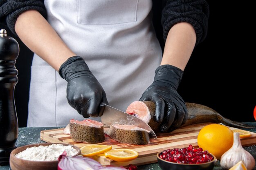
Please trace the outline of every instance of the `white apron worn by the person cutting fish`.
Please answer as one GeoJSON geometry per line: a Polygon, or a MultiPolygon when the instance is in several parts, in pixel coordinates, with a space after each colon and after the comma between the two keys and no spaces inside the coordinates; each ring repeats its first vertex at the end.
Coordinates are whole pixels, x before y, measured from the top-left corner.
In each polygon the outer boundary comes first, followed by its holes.
{"type": "MultiPolygon", "coordinates": [[[[45,7],[48,22],[84,58],[110,106],[125,111],[139,100],[162,60],[151,0],[45,0],[45,7]]],[[[35,54],[27,126],[66,126],[70,119],[84,119],[67,103],[66,88],[65,79],[35,54]]]]}

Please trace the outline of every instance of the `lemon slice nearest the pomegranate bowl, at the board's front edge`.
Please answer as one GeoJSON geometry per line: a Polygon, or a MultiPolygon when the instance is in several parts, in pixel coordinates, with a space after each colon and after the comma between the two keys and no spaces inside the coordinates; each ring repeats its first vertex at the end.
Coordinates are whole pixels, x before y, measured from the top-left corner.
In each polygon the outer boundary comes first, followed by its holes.
{"type": "Polygon", "coordinates": [[[105,152],[105,157],[119,162],[131,161],[136,159],[138,155],[138,152],[131,149],[112,149],[105,152]]]}

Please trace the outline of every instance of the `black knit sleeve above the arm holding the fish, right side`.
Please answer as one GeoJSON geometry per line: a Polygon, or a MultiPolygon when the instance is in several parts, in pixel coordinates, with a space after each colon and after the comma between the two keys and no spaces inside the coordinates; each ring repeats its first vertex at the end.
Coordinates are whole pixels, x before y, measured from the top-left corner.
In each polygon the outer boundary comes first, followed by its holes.
{"type": "Polygon", "coordinates": [[[164,0],[162,26],[164,40],[171,27],[179,22],[188,22],[196,33],[196,45],[207,35],[209,5],[206,0],[164,0]]]}

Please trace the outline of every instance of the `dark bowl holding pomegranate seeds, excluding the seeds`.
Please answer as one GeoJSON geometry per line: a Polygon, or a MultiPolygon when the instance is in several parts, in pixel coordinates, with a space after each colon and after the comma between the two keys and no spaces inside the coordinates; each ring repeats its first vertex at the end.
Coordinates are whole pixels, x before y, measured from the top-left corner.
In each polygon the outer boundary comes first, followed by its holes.
{"type": "MultiPolygon", "coordinates": [[[[213,170],[214,165],[217,161],[216,157],[213,155],[214,159],[207,163],[199,163],[199,164],[187,164],[187,163],[175,163],[165,161],[159,157],[157,153],[157,161],[162,170],[213,170]]],[[[212,154],[211,154],[212,155],[212,154]]]]}

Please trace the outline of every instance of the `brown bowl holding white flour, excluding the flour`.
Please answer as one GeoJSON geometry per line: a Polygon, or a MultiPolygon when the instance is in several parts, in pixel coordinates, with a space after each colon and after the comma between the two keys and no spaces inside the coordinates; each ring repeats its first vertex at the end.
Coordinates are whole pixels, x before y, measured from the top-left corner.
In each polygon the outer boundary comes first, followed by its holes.
{"type": "MultiPolygon", "coordinates": [[[[14,149],[11,151],[10,155],[10,166],[11,170],[57,170],[58,168],[58,161],[29,161],[25,159],[17,158],[15,155],[27,148],[31,148],[33,146],[48,146],[51,144],[58,144],[58,143],[42,143],[42,144],[31,144],[26,146],[21,146],[19,148],[14,149]]],[[[65,146],[69,146],[70,144],[63,144],[65,146]]],[[[73,146],[73,145],[72,145],[73,146]]],[[[73,146],[77,150],[77,155],[81,155],[81,150],[77,146],[73,146]]]]}

